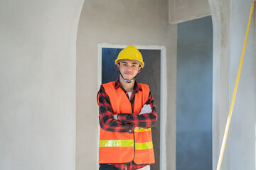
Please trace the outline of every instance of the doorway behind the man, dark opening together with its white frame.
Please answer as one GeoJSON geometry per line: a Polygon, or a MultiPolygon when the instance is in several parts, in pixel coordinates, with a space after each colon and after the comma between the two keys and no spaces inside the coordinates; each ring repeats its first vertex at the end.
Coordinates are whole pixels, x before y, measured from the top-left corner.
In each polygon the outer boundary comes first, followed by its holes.
{"type": "MultiPolygon", "coordinates": [[[[100,84],[104,84],[110,81],[116,81],[117,77],[119,77],[119,72],[114,64],[114,60],[116,60],[117,55],[119,52],[126,46],[118,46],[118,45],[100,45],[100,78],[98,79],[100,84]],[[103,64],[104,63],[104,64],[103,64]]],[[[137,47],[137,46],[136,46],[137,47]]],[[[161,103],[161,98],[165,95],[161,95],[161,89],[166,81],[163,81],[164,69],[166,67],[161,67],[161,64],[165,60],[165,48],[164,47],[144,47],[139,46],[137,47],[139,51],[142,53],[145,67],[142,69],[137,76],[137,82],[148,84],[151,89],[151,94],[154,97],[154,104],[156,105],[156,112],[158,114],[158,123],[151,128],[152,129],[152,137],[153,137],[153,145],[154,145],[154,152],[155,152],[155,159],[156,163],[151,165],[151,169],[158,170],[160,166],[163,166],[161,162],[165,158],[165,152],[161,152],[161,149],[165,147],[165,143],[163,145],[163,141],[165,141],[165,129],[160,130],[163,123],[163,118],[166,115],[166,109],[162,109],[164,103],[161,103]],[[161,157],[161,159],[160,159],[161,157]]],[[[166,75],[166,73],[165,73],[166,75]]]]}

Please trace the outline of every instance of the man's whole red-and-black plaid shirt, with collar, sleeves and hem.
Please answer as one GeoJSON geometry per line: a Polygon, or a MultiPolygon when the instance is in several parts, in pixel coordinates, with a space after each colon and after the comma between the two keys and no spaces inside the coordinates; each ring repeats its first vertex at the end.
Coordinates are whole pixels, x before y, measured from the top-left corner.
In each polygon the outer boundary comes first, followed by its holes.
{"type": "MultiPolygon", "coordinates": [[[[115,89],[121,88],[125,94],[128,93],[125,91],[119,79],[115,82],[115,89]]],[[[134,111],[134,96],[137,94],[138,91],[142,89],[139,88],[137,82],[135,81],[134,84],[134,91],[132,91],[132,95],[130,98],[131,106],[132,106],[132,113],[134,111]]],[[[133,132],[135,127],[140,128],[150,128],[156,124],[157,115],[156,115],[156,106],[154,105],[154,98],[151,96],[151,92],[149,91],[149,97],[146,101],[146,104],[150,104],[152,108],[151,113],[147,114],[127,114],[127,113],[120,113],[118,115],[119,120],[115,120],[113,118],[113,111],[111,108],[110,98],[107,96],[105,89],[103,86],[100,86],[100,91],[97,94],[97,101],[99,102],[99,120],[100,120],[100,127],[103,130],[111,131],[111,132],[133,132]]],[[[140,169],[146,165],[137,165],[134,162],[129,162],[127,164],[111,164],[112,166],[117,167],[117,169],[127,170],[132,169],[140,169]]]]}

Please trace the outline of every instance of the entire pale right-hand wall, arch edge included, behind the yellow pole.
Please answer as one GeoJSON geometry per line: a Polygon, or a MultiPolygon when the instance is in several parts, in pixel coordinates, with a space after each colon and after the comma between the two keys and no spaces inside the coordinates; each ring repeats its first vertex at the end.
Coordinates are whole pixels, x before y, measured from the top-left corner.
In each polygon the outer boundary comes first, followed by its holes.
{"type": "MultiPolygon", "coordinates": [[[[210,0],[209,4],[214,31],[213,169],[215,169],[238,72],[251,1],[210,0]]],[[[253,17],[222,169],[255,169],[255,12],[253,17]]]]}

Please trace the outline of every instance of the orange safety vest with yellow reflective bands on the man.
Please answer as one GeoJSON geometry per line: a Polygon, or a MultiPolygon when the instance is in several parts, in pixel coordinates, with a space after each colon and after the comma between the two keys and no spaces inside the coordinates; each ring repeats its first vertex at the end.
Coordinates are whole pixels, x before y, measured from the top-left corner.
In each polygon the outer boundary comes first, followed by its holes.
{"type": "MultiPolygon", "coordinates": [[[[102,86],[110,98],[113,114],[132,114],[129,98],[121,88],[114,89],[112,81],[102,86]]],[[[138,84],[134,98],[134,114],[139,114],[149,97],[149,86],[138,84]]],[[[154,164],[154,149],[151,128],[141,128],[134,132],[110,132],[100,128],[99,163],[154,164]]]]}

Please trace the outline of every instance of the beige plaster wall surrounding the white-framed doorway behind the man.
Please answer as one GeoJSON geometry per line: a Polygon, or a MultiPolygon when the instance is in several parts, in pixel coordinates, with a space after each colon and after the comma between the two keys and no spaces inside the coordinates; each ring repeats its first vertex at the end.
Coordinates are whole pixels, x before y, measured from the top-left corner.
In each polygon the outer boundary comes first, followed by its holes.
{"type": "Polygon", "coordinates": [[[169,25],[168,1],[88,0],[82,8],[77,46],[76,167],[96,169],[98,106],[96,95],[99,43],[163,45],[167,55],[168,91],[166,153],[175,169],[176,26],[169,25]]]}

